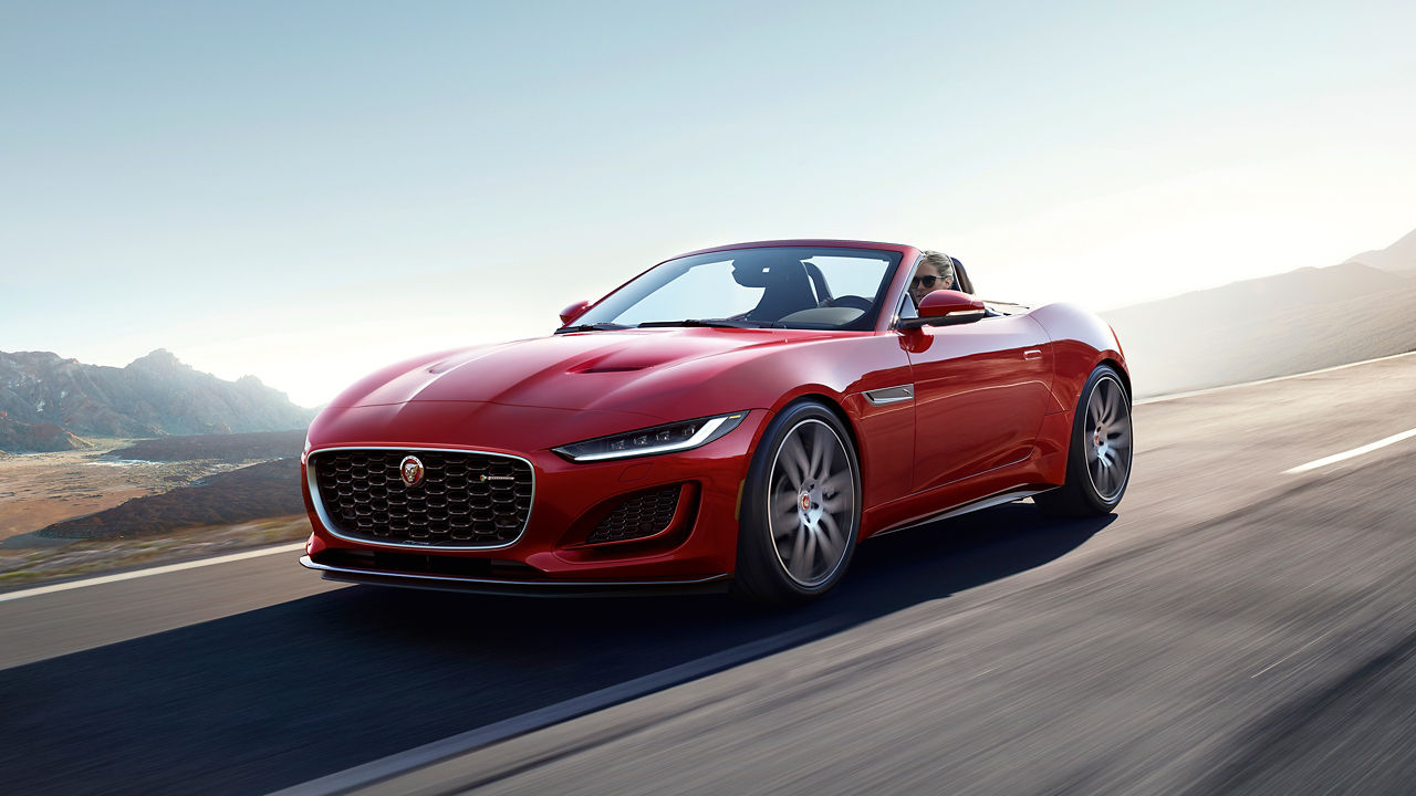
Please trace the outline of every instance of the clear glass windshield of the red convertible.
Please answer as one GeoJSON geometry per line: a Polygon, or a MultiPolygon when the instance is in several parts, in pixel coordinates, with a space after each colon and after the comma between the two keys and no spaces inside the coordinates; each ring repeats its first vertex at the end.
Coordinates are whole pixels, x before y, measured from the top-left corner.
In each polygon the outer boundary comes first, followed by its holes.
{"type": "Polygon", "coordinates": [[[565,331],[732,326],[872,329],[899,254],[765,248],[671,259],[624,285],[565,331]]]}

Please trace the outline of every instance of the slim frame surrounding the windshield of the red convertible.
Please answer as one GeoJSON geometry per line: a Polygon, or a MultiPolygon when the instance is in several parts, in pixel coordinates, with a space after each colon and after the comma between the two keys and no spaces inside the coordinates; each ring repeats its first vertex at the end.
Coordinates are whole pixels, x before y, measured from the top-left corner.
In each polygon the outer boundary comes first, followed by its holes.
{"type": "MultiPolygon", "coordinates": [[[[877,261],[877,262],[884,261],[885,262],[885,268],[882,269],[881,280],[875,286],[875,295],[874,296],[867,296],[867,297],[871,299],[871,309],[867,310],[867,312],[864,312],[864,313],[861,313],[860,317],[852,319],[851,322],[844,323],[844,324],[838,324],[838,326],[814,324],[814,323],[790,323],[790,324],[784,324],[784,323],[776,323],[776,322],[773,322],[773,323],[763,323],[760,326],[762,329],[823,330],[823,331],[877,331],[879,329],[879,320],[881,320],[882,314],[886,319],[892,319],[893,312],[885,312],[885,307],[891,306],[891,299],[893,297],[893,293],[896,292],[895,282],[898,282],[898,275],[901,272],[901,263],[909,261],[910,259],[909,255],[916,251],[912,246],[899,246],[899,245],[891,245],[891,244],[869,245],[869,244],[861,244],[861,242],[855,242],[855,241],[841,241],[841,242],[834,242],[834,241],[833,242],[826,242],[826,241],[780,241],[780,242],[777,242],[777,241],[772,241],[772,242],[762,242],[762,244],[739,244],[739,245],[733,245],[733,246],[722,246],[722,248],[714,248],[714,249],[702,249],[702,251],[697,251],[697,252],[688,252],[688,254],[684,254],[684,255],[668,258],[668,259],[666,259],[666,261],[654,265],[653,268],[650,268],[650,269],[639,273],[633,279],[624,282],[623,285],[620,285],[619,288],[616,288],[610,293],[606,293],[602,299],[599,299],[598,302],[595,302],[593,305],[590,305],[579,317],[573,319],[569,324],[562,326],[556,331],[558,333],[573,331],[578,327],[582,327],[582,326],[586,326],[586,324],[606,323],[605,319],[596,320],[599,317],[599,314],[596,313],[596,310],[600,310],[600,309],[606,307],[606,305],[612,303],[616,297],[624,296],[626,290],[634,290],[634,288],[637,285],[644,285],[646,279],[649,279],[650,282],[653,282],[653,279],[654,279],[653,275],[656,275],[656,272],[661,273],[663,269],[666,269],[666,268],[678,268],[678,266],[683,266],[684,261],[715,262],[715,261],[721,261],[721,259],[736,259],[736,256],[741,256],[739,252],[773,251],[773,249],[777,249],[777,251],[780,251],[780,249],[810,249],[810,251],[816,251],[816,252],[821,252],[821,254],[841,252],[841,254],[845,254],[847,256],[860,256],[861,259],[877,261]]],[[[809,258],[803,256],[801,259],[809,259],[809,258]]],[[[691,268],[691,265],[690,265],[690,268],[691,268]]],[[[649,296],[654,290],[658,290],[660,288],[663,288],[668,282],[671,282],[671,279],[664,280],[664,282],[661,282],[661,283],[650,288],[643,295],[634,297],[629,305],[626,305],[623,309],[620,309],[616,313],[616,317],[619,317],[623,312],[629,310],[629,307],[632,307],[639,300],[643,300],[644,296],[649,296]]],[[[664,319],[664,320],[670,320],[670,319],[664,319]]],[[[700,320],[700,319],[680,319],[680,320],[700,320]]],[[[724,320],[724,319],[716,319],[716,320],[724,320]]],[[[664,326],[664,323],[656,323],[656,326],[664,326]]],[[[636,329],[636,326],[629,326],[627,329],[636,329]]]]}

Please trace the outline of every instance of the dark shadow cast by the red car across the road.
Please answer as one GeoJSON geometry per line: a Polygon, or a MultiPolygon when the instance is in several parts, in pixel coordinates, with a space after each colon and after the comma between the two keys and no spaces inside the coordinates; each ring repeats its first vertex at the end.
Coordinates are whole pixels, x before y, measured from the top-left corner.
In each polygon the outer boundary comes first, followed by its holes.
{"type": "Polygon", "coordinates": [[[1055,561],[1112,520],[1010,504],[871,540],[831,595],[779,610],[330,591],[0,673],[0,778],[16,792],[285,788],[784,633],[800,644],[930,601],[947,612],[950,595],[1055,561]]]}

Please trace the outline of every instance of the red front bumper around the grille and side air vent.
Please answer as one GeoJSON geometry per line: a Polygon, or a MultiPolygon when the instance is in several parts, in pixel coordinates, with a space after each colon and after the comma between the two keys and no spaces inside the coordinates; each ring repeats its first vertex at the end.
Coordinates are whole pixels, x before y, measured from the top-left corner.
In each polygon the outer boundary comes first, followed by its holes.
{"type": "MultiPolygon", "coordinates": [[[[733,432],[692,450],[592,463],[566,462],[549,448],[528,452],[484,445],[484,438],[449,443],[445,436],[405,435],[392,446],[411,452],[463,448],[530,462],[535,493],[521,535],[508,545],[484,550],[411,548],[346,538],[324,524],[310,494],[310,479],[302,473],[314,533],[300,562],[333,581],[481,593],[721,591],[736,565],[738,501],[752,449],[767,419],[769,412],[756,409],[733,432]],[[626,496],[673,484],[684,484],[684,499],[692,504],[683,517],[675,516],[671,533],[586,544],[589,528],[626,496]]],[[[391,446],[387,428],[324,439],[317,431],[312,429],[316,442],[307,455],[330,448],[391,446]]]]}

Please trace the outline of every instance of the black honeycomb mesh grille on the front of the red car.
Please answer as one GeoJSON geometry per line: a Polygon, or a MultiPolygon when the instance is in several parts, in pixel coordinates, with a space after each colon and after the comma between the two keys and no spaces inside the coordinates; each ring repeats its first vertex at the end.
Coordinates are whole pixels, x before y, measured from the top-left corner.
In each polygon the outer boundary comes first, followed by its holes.
{"type": "Polygon", "coordinates": [[[447,547],[507,544],[531,514],[531,466],[520,459],[445,450],[330,450],[310,455],[324,513],[351,538],[447,547]],[[405,486],[416,456],[423,477],[405,486]]]}

